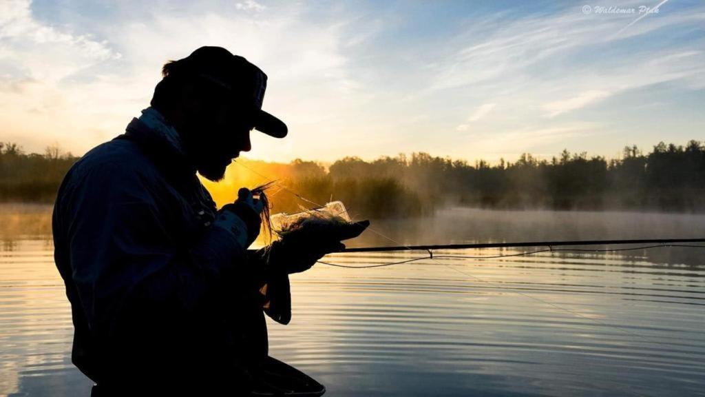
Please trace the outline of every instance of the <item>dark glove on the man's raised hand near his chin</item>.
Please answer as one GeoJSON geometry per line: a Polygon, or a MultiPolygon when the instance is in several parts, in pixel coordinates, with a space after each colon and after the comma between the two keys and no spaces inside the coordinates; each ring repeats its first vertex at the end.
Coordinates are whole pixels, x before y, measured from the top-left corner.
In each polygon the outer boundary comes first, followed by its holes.
{"type": "Polygon", "coordinates": [[[213,226],[230,232],[243,248],[250,247],[259,235],[262,209],[262,201],[253,198],[250,189],[243,187],[235,203],[226,204],[218,211],[213,226]]]}

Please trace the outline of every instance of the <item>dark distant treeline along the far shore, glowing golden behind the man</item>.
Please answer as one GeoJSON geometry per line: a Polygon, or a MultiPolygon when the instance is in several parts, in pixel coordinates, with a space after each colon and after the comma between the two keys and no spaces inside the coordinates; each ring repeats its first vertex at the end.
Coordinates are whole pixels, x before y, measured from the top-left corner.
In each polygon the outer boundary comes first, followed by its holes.
{"type": "MultiPolygon", "coordinates": [[[[61,178],[76,158],[58,148],[24,154],[18,146],[0,146],[0,200],[53,200],[61,178]]],[[[563,150],[551,160],[522,154],[515,162],[489,165],[479,160],[434,157],[427,153],[374,161],[343,158],[330,167],[294,160],[288,164],[238,159],[226,179],[204,182],[219,204],[231,201],[238,187],[278,179],[317,203],[341,200],[353,213],[387,218],[432,213],[448,205],[484,208],[629,209],[705,211],[705,146],[658,143],[650,153],[636,146],[620,159],[607,160],[563,150]]],[[[274,212],[307,205],[287,191],[271,199],[274,212]]]]}

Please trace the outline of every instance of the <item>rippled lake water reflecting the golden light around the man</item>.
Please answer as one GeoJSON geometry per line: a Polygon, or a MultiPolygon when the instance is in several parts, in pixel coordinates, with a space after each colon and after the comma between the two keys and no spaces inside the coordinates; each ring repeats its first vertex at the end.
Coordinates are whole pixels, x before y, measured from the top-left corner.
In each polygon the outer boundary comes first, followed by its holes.
{"type": "MultiPolygon", "coordinates": [[[[1,396],[90,393],[71,365],[48,211],[0,208],[1,396]]],[[[455,208],[372,227],[395,242],[365,232],[348,245],[705,237],[705,215],[455,208]]],[[[269,323],[270,352],[326,396],[705,395],[705,249],[317,265],[292,276],[292,293],[291,323],[269,323]]]]}

